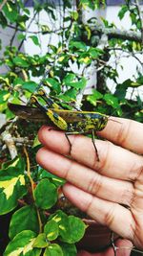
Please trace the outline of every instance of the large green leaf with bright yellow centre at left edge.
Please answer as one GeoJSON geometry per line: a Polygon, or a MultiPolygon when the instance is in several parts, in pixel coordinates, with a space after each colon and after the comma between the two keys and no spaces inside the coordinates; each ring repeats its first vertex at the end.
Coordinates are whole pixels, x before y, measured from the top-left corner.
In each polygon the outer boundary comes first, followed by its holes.
{"type": "Polygon", "coordinates": [[[17,206],[18,199],[27,193],[25,182],[25,164],[15,158],[10,165],[3,165],[0,171],[0,214],[9,213],[17,206]]]}

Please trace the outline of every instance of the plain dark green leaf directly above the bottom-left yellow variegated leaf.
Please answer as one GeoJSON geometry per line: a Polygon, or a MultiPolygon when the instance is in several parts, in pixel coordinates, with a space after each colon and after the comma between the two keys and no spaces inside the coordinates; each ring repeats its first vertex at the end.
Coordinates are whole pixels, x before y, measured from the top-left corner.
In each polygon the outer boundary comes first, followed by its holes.
{"type": "Polygon", "coordinates": [[[12,215],[9,229],[10,239],[23,230],[31,230],[35,233],[39,231],[37,212],[32,205],[24,206],[12,215]]]}

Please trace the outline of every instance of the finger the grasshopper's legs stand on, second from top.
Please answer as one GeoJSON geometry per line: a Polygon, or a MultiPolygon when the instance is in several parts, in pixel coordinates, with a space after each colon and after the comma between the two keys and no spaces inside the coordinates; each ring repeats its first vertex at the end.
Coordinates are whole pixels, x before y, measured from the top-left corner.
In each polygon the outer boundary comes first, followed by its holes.
{"type": "MultiPolygon", "coordinates": [[[[38,135],[41,143],[51,151],[61,154],[69,153],[70,145],[64,132],[42,127],[38,135]]],[[[97,161],[91,138],[74,135],[70,136],[70,141],[72,158],[102,175],[135,180],[142,170],[143,157],[108,141],[95,140],[99,161],[97,161]]]]}

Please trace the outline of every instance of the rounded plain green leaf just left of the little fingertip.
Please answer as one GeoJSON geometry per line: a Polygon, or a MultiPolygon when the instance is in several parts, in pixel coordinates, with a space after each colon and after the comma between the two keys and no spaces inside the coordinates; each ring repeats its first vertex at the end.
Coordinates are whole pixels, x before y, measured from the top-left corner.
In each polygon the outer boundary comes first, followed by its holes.
{"type": "Polygon", "coordinates": [[[57,200],[57,189],[48,178],[39,182],[34,190],[35,203],[42,209],[50,209],[57,200]]]}

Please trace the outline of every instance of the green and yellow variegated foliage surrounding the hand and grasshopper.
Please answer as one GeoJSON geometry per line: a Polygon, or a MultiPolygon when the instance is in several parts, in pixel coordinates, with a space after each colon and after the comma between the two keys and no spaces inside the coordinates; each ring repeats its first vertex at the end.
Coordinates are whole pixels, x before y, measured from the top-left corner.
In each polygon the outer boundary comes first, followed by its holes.
{"type": "MultiPolygon", "coordinates": [[[[81,240],[86,228],[79,218],[55,209],[65,181],[36,165],[34,156],[40,147],[36,134],[40,124],[15,119],[8,107],[9,101],[28,104],[31,94],[42,81],[40,85],[47,88],[51,97],[62,100],[63,105],[73,102],[86,110],[113,113],[140,122],[143,118],[142,100],[139,94],[134,96],[143,84],[138,58],[142,51],[141,39],[130,39],[127,35],[123,40],[119,35],[109,35],[101,47],[103,32],[112,32],[116,29],[115,24],[103,19],[100,28],[96,18],[84,23],[82,12],[105,8],[105,1],[80,0],[76,1],[76,8],[72,4],[72,1],[63,0],[62,19],[54,31],[58,8],[51,1],[34,1],[31,13],[21,0],[0,0],[0,26],[4,31],[13,30],[7,47],[3,47],[3,39],[0,41],[3,50],[0,65],[7,70],[0,74],[0,111],[7,119],[0,129],[0,215],[12,213],[10,243],[4,255],[76,255],[75,243],[81,240]],[[51,24],[37,19],[42,12],[47,13],[51,24]],[[30,25],[35,20],[38,32],[31,32],[30,25]],[[30,40],[37,49],[42,47],[39,34],[47,40],[47,52],[41,55],[25,53],[22,47],[30,40]],[[58,35],[57,43],[51,43],[52,35],[58,35]],[[14,45],[15,38],[18,46],[14,45]],[[116,66],[110,61],[114,56],[116,63],[118,52],[138,61],[136,76],[122,83],[118,80],[116,66]],[[91,94],[86,95],[87,73],[92,66],[97,73],[97,82],[93,84],[91,94]],[[107,79],[114,82],[113,91],[107,86],[107,79]],[[129,91],[132,97],[129,97],[129,91]]],[[[123,19],[126,14],[131,18],[131,32],[141,35],[143,28],[138,5],[126,1],[118,17],[123,19]]],[[[119,65],[118,62],[117,67],[119,65]]]]}

